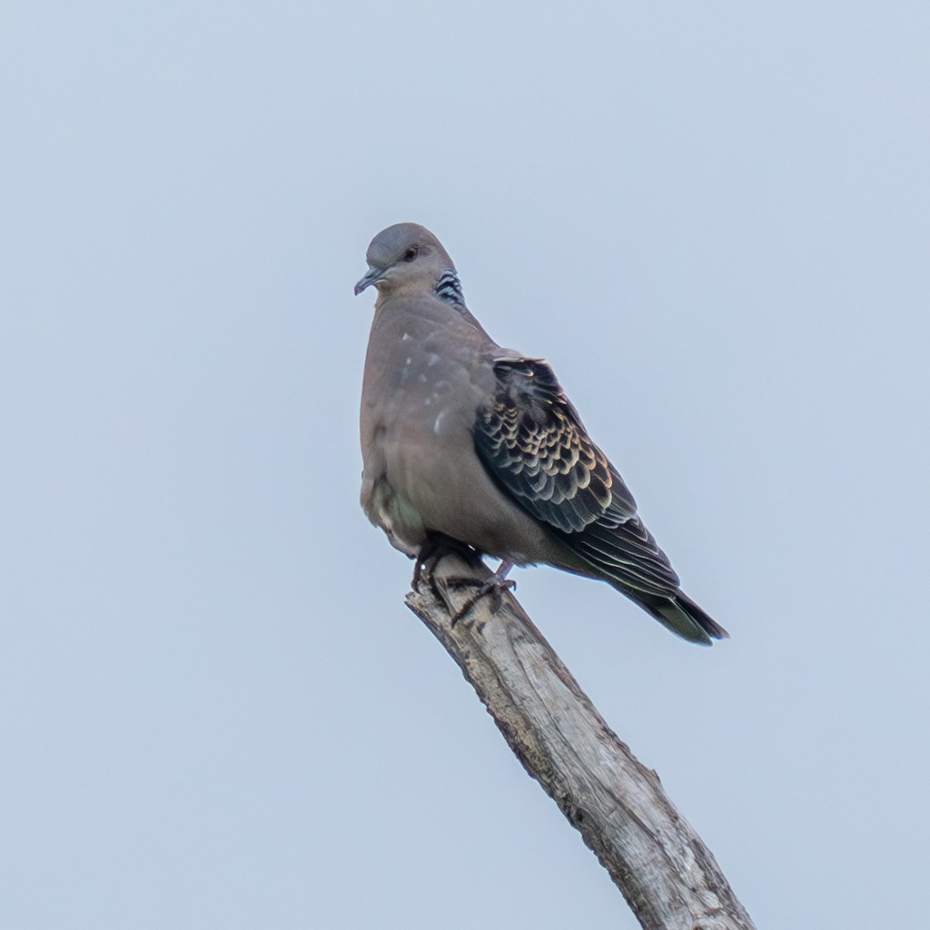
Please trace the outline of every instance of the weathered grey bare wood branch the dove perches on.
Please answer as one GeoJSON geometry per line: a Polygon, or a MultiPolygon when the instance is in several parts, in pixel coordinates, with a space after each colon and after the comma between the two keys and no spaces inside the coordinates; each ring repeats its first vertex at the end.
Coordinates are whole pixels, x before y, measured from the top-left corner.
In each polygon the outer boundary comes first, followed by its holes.
{"type": "Polygon", "coordinates": [[[645,930],[754,930],[711,851],[675,809],[525,615],[505,594],[481,598],[450,579],[485,565],[445,556],[407,604],[458,662],[526,771],[610,873],[645,930]]]}

